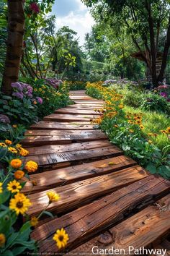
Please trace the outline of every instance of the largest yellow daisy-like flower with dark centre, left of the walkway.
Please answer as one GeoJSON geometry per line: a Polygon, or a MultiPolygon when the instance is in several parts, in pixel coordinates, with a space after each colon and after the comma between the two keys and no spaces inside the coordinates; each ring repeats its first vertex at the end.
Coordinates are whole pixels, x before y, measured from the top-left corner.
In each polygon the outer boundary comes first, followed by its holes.
{"type": "Polygon", "coordinates": [[[17,215],[19,215],[19,213],[23,215],[28,210],[30,205],[30,199],[25,197],[25,195],[22,193],[14,195],[14,198],[12,198],[9,202],[9,208],[11,210],[15,210],[17,215]]]}

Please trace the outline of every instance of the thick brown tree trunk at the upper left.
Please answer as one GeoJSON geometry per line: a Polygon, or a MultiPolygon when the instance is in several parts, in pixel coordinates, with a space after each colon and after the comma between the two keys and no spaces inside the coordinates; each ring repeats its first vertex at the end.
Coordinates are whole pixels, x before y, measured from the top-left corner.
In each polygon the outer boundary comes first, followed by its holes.
{"type": "Polygon", "coordinates": [[[19,64],[22,58],[24,35],[24,1],[8,0],[8,37],[6,42],[6,61],[1,91],[12,94],[12,82],[17,82],[19,64]]]}

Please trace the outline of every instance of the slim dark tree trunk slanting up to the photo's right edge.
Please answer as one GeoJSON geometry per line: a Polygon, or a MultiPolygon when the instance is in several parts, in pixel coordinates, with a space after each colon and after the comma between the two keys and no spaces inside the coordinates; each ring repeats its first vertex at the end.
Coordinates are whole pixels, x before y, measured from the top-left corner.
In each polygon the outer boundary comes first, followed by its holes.
{"type": "Polygon", "coordinates": [[[165,42],[164,52],[163,52],[163,56],[162,56],[161,69],[160,69],[160,72],[158,75],[158,82],[162,82],[164,79],[164,72],[166,69],[166,63],[167,63],[167,58],[168,58],[168,54],[169,54],[169,47],[170,47],[170,16],[169,16],[169,27],[168,27],[167,34],[166,34],[166,42],[165,42]]]}

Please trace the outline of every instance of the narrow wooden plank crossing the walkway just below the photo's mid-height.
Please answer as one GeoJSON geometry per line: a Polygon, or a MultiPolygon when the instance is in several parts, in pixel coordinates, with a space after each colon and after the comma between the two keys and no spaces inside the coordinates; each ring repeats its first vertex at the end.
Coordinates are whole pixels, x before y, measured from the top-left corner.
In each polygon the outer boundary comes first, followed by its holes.
{"type": "MultiPolygon", "coordinates": [[[[32,131],[35,131],[35,130],[32,129],[32,131]]],[[[48,131],[51,132],[53,130],[48,130],[48,131]]],[[[107,138],[106,135],[102,133],[78,134],[78,135],[75,135],[75,134],[42,135],[41,133],[41,135],[27,136],[24,140],[22,140],[21,143],[23,146],[33,147],[33,146],[40,146],[40,145],[60,145],[60,144],[68,144],[71,142],[83,142],[83,141],[91,141],[91,140],[106,140],[106,138],[107,138]]]]}

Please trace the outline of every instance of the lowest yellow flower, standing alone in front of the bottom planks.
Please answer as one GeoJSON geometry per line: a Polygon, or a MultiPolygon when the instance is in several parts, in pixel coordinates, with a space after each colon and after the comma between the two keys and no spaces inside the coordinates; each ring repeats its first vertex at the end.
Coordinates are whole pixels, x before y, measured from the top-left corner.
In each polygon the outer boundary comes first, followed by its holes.
{"type": "Polygon", "coordinates": [[[68,239],[68,234],[66,234],[66,231],[63,228],[61,230],[58,229],[53,236],[53,240],[56,242],[58,249],[66,247],[68,239]]]}

